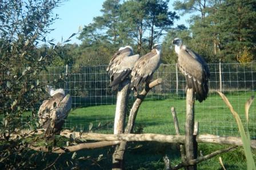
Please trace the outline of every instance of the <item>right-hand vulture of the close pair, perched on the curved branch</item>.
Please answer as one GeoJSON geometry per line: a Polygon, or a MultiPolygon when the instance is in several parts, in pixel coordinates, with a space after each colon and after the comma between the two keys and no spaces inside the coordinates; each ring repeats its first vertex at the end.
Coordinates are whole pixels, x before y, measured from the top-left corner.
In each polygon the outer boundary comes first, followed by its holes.
{"type": "Polygon", "coordinates": [[[146,55],[142,56],[135,63],[133,71],[131,71],[130,88],[135,91],[143,84],[149,84],[153,73],[160,65],[161,44],[154,44],[152,50],[146,55]]]}

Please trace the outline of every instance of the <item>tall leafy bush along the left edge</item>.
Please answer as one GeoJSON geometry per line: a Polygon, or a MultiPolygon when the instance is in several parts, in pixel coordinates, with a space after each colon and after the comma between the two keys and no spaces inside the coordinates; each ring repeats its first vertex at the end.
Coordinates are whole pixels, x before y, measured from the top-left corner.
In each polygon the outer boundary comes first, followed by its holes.
{"type": "Polygon", "coordinates": [[[38,126],[35,107],[46,94],[46,84],[40,82],[38,75],[62,51],[61,45],[46,40],[52,31],[49,27],[58,18],[53,16],[53,9],[61,3],[62,0],[0,1],[1,168],[37,166],[33,159],[37,154],[28,154],[28,140],[19,132],[25,128],[35,130],[38,126]],[[40,51],[42,44],[51,50],[40,51]],[[31,115],[23,116],[28,109],[31,115]],[[18,136],[13,139],[10,134],[18,136]]]}

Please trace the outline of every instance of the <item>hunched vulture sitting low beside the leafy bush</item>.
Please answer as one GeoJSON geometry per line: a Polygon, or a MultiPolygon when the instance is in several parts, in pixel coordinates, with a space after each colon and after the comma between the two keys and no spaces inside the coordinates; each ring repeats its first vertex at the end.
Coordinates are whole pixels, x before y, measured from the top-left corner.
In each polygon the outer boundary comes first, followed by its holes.
{"type": "Polygon", "coordinates": [[[65,118],[71,110],[71,97],[69,94],[65,96],[63,89],[54,90],[51,86],[46,87],[51,97],[43,101],[39,107],[38,117],[39,125],[46,132],[46,137],[51,137],[61,131],[61,127],[65,122],[65,118]]]}

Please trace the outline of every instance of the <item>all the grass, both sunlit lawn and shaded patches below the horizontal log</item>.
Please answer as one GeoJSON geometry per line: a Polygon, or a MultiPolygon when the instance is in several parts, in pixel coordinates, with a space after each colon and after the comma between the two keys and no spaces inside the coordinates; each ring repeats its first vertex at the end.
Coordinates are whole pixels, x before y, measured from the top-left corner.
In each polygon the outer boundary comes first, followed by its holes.
{"type": "MultiPolygon", "coordinates": [[[[238,111],[242,122],[245,121],[244,103],[251,96],[251,93],[227,93],[230,103],[234,109],[238,111]]],[[[183,98],[157,99],[147,98],[141,105],[137,119],[135,121],[135,131],[143,133],[157,134],[175,134],[173,118],[171,117],[170,107],[174,106],[177,110],[179,126],[182,134],[184,132],[186,119],[186,101],[183,98]]],[[[132,102],[130,101],[130,107],[132,102]]],[[[250,135],[255,139],[256,136],[256,116],[255,103],[251,105],[249,111],[249,130],[250,135]]],[[[93,132],[113,133],[113,120],[115,114],[115,105],[101,105],[77,108],[71,111],[67,118],[66,127],[76,130],[88,131],[90,123],[93,127],[97,127],[99,122],[105,125],[99,130],[93,128],[93,132]]],[[[233,115],[223,103],[222,99],[211,93],[206,101],[195,103],[195,121],[199,122],[199,134],[215,134],[225,136],[238,136],[238,128],[233,115]]],[[[198,150],[202,151],[203,155],[210,152],[225,148],[218,144],[202,144],[199,143],[198,150]]],[[[96,150],[83,150],[77,152],[77,158],[81,156],[90,156],[86,160],[72,160],[73,164],[80,169],[111,169],[111,156],[114,152],[114,147],[98,148],[96,150]],[[98,156],[103,154],[103,159],[95,164],[98,156]]],[[[256,151],[253,150],[254,160],[256,159],[256,151]]],[[[177,144],[157,143],[157,142],[130,142],[125,154],[126,169],[164,169],[163,156],[169,156],[171,164],[180,163],[180,155],[177,144]]],[[[57,154],[49,154],[47,162],[54,161],[57,154]]],[[[72,154],[64,154],[57,161],[56,167],[66,169],[67,160],[71,159],[72,154]]],[[[219,164],[218,157],[222,157],[226,169],[246,169],[246,159],[243,154],[242,147],[226,154],[221,154],[213,159],[203,161],[198,164],[198,169],[222,169],[219,164]]],[[[40,160],[40,159],[39,159],[40,160]]],[[[45,163],[42,162],[42,165],[45,163]]],[[[71,163],[69,163],[70,165],[71,163]]],[[[70,165],[69,168],[74,165],[70,165]]],[[[68,168],[68,169],[69,169],[68,168]]]]}

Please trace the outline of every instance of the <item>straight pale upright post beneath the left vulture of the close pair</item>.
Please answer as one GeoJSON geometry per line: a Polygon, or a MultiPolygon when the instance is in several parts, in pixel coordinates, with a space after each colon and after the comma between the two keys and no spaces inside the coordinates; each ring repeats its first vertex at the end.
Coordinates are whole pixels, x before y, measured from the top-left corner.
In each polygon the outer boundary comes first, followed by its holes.
{"type": "MultiPolygon", "coordinates": [[[[130,80],[125,80],[121,84],[119,84],[118,93],[117,93],[117,106],[115,109],[115,121],[114,121],[114,134],[122,134],[125,126],[125,116],[126,116],[126,106],[128,103],[129,96],[129,85],[130,80]]],[[[122,144],[117,145],[115,147],[115,151],[113,154],[112,169],[119,169],[118,167],[122,167],[122,155],[118,154],[122,149],[122,144]],[[116,168],[117,167],[117,168],[116,168]]]]}

